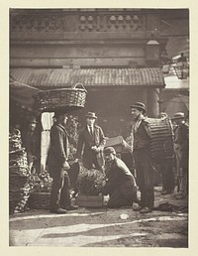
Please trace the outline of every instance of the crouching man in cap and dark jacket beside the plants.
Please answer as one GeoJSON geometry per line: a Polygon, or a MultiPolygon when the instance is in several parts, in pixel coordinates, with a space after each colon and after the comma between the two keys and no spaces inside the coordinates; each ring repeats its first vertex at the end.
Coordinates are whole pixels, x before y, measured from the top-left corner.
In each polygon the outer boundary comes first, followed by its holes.
{"type": "Polygon", "coordinates": [[[119,208],[122,206],[133,206],[133,202],[139,203],[137,197],[137,185],[134,176],[126,164],[116,157],[113,147],[104,150],[106,165],[106,183],[102,194],[109,194],[107,206],[119,208]]]}

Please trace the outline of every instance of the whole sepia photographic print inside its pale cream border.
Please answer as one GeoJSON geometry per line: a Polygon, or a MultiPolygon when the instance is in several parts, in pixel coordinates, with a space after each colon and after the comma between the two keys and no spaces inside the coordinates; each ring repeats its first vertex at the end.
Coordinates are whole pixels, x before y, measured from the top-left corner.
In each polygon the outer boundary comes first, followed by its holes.
{"type": "Polygon", "coordinates": [[[190,15],[9,7],[9,248],[190,248],[190,15]]]}

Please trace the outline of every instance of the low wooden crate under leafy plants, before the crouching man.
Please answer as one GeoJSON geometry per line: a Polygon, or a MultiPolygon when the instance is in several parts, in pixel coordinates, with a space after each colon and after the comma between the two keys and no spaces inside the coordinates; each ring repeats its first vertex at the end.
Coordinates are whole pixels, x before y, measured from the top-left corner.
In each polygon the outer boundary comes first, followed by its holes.
{"type": "Polygon", "coordinates": [[[75,203],[80,207],[101,207],[104,205],[104,196],[79,194],[75,203]]]}

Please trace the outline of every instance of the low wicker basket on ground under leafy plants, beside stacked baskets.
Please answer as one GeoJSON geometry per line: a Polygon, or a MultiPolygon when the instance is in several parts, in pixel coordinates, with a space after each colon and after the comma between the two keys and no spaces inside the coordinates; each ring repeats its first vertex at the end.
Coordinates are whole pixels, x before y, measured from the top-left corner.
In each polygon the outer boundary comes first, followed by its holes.
{"type": "Polygon", "coordinates": [[[28,205],[33,209],[49,209],[50,192],[31,192],[28,205]]]}

